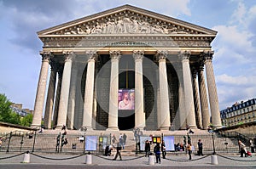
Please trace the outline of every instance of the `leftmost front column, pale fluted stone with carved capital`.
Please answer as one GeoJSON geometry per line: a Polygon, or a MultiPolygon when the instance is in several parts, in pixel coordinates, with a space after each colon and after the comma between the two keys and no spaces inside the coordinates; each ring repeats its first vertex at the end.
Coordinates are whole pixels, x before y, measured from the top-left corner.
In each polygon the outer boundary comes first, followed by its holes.
{"type": "Polygon", "coordinates": [[[44,110],[44,97],[46,91],[46,82],[49,69],[49,57],[51,54],[49,52],[42,52],[42,65],[40,70],[40,76],[38,81],[38,91],[35,100],[34,114],[32,120],[32,127],[41,126],[43,110],[44,110]]]}

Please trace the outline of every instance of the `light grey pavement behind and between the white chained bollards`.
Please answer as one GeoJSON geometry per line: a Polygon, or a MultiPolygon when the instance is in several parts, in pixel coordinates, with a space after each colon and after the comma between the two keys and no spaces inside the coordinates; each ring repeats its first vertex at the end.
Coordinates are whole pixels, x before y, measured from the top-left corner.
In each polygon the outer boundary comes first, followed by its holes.
{"type": "MultiPolygon", "coordinates": [[[[25,154],[20,153],[0,153],[0,168],[3,164],[20,164],[24,161],[25,154]],[[11,156],[15,157],[9,158],[11,156]],[[6,158],[6,159],[3,159],[6,158]]],[[[192,161],[188,161],[188,155],[168,155],[166,159],[161,159],[160,164],[154,166],[214,166],[211,155],[192,155],[192,161]]],[[[143,155],[123,156],[122,160],[113,161],[113,156],[92,155],[92,165],[97,166],[149,166],[148,157],[143,155]]],[[[30,154],[30,164],[46,165],[85,165],[86,155],[64,155],[64,154],[30,154]]],[[[253,157],[240,157],[236,155],[218,155],[218,166],[256,166],[256,155],[253,157]]]]}

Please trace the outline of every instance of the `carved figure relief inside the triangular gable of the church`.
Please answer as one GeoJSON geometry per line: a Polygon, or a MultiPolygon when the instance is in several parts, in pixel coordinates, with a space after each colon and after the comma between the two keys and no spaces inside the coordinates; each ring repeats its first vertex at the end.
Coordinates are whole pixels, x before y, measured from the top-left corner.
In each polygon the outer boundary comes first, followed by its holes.
{"type": "Polygon", "coordinates": [[[78,25],[72,30],[65,31],[64,34],[189,34],[189,29],[160,20],[129,17],[125,14],[117,18],[99,20],[94,24],[78,25]]]}

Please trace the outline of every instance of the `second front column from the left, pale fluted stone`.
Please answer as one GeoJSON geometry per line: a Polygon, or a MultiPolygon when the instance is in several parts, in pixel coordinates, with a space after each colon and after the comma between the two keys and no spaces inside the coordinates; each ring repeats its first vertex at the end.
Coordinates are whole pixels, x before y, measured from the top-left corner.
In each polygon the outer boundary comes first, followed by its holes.
{"type": "Polygon", "coordinates": [[[65,64],[62,74],[61,96],[59,103],[57,128],[61,128],[63,125],[67,125],[68,96],[71,78],[72,59],[74,57],[74,54],[72,52],[63,52],[63,54],[65,57],[65,64]]]}

